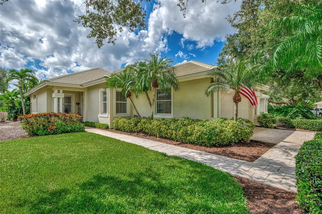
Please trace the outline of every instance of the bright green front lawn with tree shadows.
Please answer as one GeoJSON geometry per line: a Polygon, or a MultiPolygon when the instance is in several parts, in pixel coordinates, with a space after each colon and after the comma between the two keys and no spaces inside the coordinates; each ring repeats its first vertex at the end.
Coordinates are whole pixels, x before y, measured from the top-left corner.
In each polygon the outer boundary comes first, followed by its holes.
{"type": "Polygon", "coordinates": [[[0,142],[0,213],[249,213],[202,163],[93,133],[0,142]]]}

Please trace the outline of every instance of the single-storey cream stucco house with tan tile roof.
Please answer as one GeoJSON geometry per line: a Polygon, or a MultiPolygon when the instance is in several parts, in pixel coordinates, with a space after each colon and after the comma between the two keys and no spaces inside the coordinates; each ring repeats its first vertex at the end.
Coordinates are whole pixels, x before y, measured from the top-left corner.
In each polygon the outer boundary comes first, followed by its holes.
{"type": "MultiPolygon", "coordinates": [[[[207,72],[218,69],[217,66],[191,60],[174,67],[179,90],[171,89],[168,93],[157,90],[155,118],[233,117],[233,91],[213,92],[209,97],[205,94],[207,86],[214,81],[207,76],[207,72]]],[[[121,70],[123,69],[114,72],[121,70]]],[[[25,96],[30,97],[32,113],[70,112],[82,115],[83,121],[107,123],[113,127],[115,117],[133,117],[135,112],[120,90],[104,90],[105,78],[110,74],[107,70],[95,68],[45,79],[25,96]]],[[[268,90],[266,86],[254,90],[259,105],[253,109],[248,99],[242,96],[242,101],[238,104],[238,116],[257,124],[260,112],[267,111],[269,97],[261,93],[268,90]]],[[[149,95],[152,99],[152,92],[149,95]]],[[[132,96],[132,99],[141,116],[150,116],[151,108],[144,94],[139,94],[138,98],[132,96]]]]}

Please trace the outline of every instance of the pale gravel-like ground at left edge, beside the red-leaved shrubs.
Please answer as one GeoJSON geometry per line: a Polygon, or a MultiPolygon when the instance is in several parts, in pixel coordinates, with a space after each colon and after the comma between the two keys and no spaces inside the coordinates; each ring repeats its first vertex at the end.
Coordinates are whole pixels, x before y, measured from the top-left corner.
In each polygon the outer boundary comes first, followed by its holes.
{"type": "Polygon", "coordinates": [[[5,121],[0,123],[0,141],[26,138],[29,135],[21,127],[20,121],[5,121]]]}

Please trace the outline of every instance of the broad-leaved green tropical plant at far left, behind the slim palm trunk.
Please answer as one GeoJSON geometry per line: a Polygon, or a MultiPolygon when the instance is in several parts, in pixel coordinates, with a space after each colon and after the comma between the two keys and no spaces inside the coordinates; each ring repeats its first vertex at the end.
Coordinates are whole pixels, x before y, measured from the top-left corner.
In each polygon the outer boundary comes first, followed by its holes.
{"type": "MultiPolygon", "coordinates": [[[[26,111],[29,112],[29,100],[25,97],[24,106],[26,111]]],[[[8,112],[9,120],[16,119],[18,116],[23,114],[19,91],[16,88],[12,91],[5,89],[5,92],[0,94],[0,111],[8,112]]]]}

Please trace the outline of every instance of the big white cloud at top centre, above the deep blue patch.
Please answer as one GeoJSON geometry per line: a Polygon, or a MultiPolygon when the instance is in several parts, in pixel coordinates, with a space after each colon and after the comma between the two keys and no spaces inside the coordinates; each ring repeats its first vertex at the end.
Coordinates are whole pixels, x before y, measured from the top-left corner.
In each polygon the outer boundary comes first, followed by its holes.
{"type": "Polygon", "coordinates": [[[214,40],[224,42],[225,35],[233,33],[232,27],[224,18],[238,10],[241,1],[225,5],[217,1],[207,1],[206,5],[199,0],[189,1],[186,18],[174,6],[177,0],[158,0],[158,3],[150,14],[150,38],[160,35],[162,30],[167,33],[175,31],[183,35],[180,41],[182,46],[185,40],[191,40],[197,42],[196,48],[204,48],[212,46],[214,40]]]}

